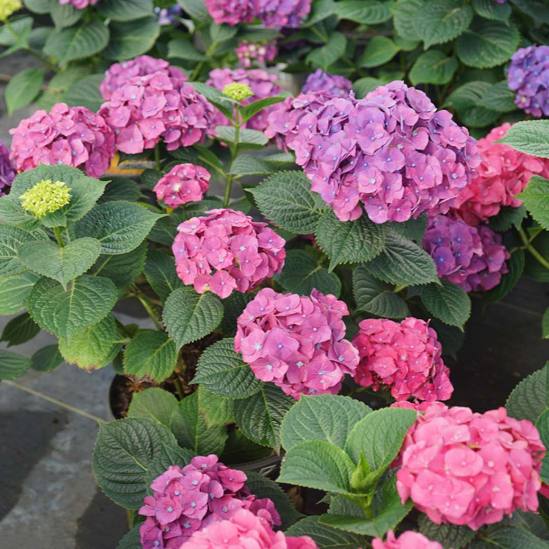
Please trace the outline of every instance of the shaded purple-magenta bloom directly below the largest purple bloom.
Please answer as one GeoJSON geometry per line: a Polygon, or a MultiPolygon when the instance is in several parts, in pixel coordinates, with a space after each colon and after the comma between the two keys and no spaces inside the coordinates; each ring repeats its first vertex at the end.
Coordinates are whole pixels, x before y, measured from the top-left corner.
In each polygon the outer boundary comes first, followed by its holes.
{"type": "Polygon", "coordinates": [[[471,227],[461,219],[439,215],[429,219],[423,249],[433,257],[439,278],[466,292],[486,292],[500,283],[510,255],[501,234],[489,227],[471,227]]]}

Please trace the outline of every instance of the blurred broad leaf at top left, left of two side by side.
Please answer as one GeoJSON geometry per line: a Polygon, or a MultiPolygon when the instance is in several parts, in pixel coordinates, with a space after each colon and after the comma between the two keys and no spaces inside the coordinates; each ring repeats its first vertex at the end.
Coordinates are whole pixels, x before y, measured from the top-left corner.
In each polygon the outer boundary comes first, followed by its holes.
{"type": "MultiPolygon", "coordinates": [[[[91,57],[109,43],[109,27],[103,21],[88,21],[79,26],[52,31],[46,40],[44,53],[58,60],[59,64],[75,59],[91,57]]],[[[106,52],[107,50],[105,50],[106,52]]]]}

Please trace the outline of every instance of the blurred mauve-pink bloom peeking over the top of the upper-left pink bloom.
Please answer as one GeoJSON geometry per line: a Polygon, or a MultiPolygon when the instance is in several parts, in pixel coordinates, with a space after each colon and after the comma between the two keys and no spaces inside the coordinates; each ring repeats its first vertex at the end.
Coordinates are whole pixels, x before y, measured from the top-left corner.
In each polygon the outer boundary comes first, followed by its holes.
{"type": "Polygon", "coordinates": [[[135,76],[146,76],[153,72],[164,72],[172,78],[187,80],[187,76],[177,67],[171,66],[164,59],[156,59],[150,55],[139,55],[135,59],[113,63],[107,71],[105,78],[99,86],[103,99],[109,100],[118,88],[124,86],[128,80],[135,76]]]}

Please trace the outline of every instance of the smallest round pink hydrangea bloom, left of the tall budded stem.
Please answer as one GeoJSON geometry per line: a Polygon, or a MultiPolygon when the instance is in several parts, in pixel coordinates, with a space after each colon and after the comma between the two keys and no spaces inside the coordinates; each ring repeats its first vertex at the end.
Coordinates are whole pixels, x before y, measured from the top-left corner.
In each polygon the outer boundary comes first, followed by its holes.
{"type": "Polygon", "coordinates": [[[177,164],[158,180],[153,191],[158,200],[164,200],[166,206],[176,208],[187,202],[202,200],[210,188],[210,177],[210,172],[202,166],[177,164]]]}

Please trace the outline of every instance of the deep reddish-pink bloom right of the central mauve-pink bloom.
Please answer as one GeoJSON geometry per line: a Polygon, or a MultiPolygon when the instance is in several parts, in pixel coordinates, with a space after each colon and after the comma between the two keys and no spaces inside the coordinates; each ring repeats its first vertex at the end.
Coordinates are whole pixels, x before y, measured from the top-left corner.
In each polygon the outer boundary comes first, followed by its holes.
{"type": "Polygon", "coordinates": [[[394,322],[367,318],[352,340],[360,363],[355,381],[362,386],[390,389],[396,400],[447,400],[452,396],[450,370],[442,362],[442,345],[429,323],[418,318],[394,322]]]}

